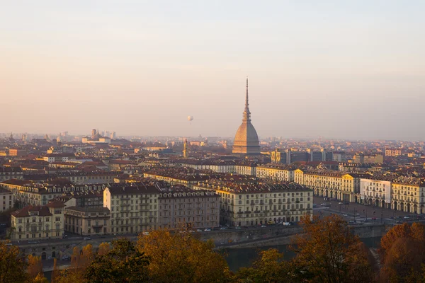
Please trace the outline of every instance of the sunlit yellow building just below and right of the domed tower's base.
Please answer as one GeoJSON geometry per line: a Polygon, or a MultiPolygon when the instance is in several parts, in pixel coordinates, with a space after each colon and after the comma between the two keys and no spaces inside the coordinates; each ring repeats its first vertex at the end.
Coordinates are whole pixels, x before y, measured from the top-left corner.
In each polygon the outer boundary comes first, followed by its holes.
{"type": "Polygon", "coordinates": [[[268,163],[257,166],[256,177],[279,182],[293,182],[295,169],[296,167],[291,165],[268,163]]]}

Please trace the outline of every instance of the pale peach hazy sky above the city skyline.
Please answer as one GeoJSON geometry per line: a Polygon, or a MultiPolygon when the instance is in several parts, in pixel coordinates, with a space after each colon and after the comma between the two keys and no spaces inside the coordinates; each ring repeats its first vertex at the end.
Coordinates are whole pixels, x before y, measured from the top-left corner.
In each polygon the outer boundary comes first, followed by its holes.
{"type": "Polygon", "coordinates": [[[1,1],[0,132],[425,139],[425,1],[1,1]],[[187,116],[193,115],[190,124],[187,116]]]}

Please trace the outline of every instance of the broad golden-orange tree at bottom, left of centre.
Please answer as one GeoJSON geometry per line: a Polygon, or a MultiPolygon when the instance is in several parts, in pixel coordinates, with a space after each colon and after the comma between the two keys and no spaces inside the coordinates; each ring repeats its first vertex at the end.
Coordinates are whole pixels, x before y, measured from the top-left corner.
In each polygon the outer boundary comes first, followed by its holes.
{"type": "Polygon", "coordinates": [[[227,282],[229,267],[224,256],[192,233],[166,229],[140,234],[137,248],[149,258],[152,282],[227,282]]]}

